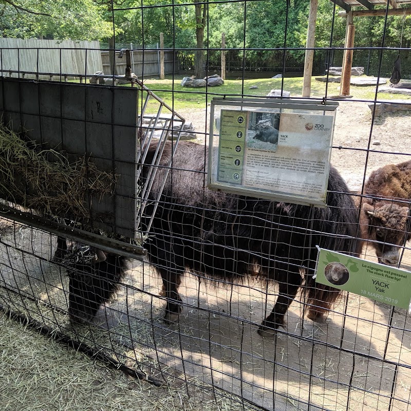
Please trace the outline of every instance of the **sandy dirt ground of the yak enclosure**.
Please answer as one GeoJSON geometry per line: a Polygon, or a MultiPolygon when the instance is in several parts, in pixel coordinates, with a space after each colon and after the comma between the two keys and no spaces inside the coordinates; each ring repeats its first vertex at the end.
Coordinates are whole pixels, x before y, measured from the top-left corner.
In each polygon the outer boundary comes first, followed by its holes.
{"type": "MultiPolygon", "coordinates": [[[[193,122],[197,142],[203,142],[206,110],[181,115],[193,122]]],[[[361,189],[364,175],[372,170],[408,159],[410,126],[409,113],[395,113],[377,118],[371,133],[367,103],[340,102],[333,140],[338,148],[333,148],[331,162],[352,191],[361,189]]],[[[2,291],[0,299],[16,309],[32,307],[39,319],[69,332],[66,315],[47,311],[53,305],[67,310],[67,278],[49,262],[55,237],[20,228],[3,233],[2,241],[0,281],[9,292],[2,291]],[[6,245],[13,247],[11,253],[6,245]],[[42,307],[15,299],[10,290],[17,286],[40,298],[42,307]]],[[[371,250],[366,258],[376,260],[371,250]]],[[[403,267],[410,261],[407,250],[403,267]]],[[[304,319],[300,296],[289,310],[287,328],[270,339],[259,337],[256,329],[275,302],[273,286],[266,289],[250,281],[215,288],[187,275],[180,287],[183,312],[171,326],[162,321],[159,289],[153,269],[135,262],[115,300],[100,310],[93,324],[97,331],[90,326],[76,332],[92,344],[108,330],[108,340],[98,342],[110,355],[145,364],[154,373],[174,373],[186,383],[195,380],[228,391],[266,409],[411,409],[411,320],[406,310],[345,295],[321,325],[304,319]]]]}

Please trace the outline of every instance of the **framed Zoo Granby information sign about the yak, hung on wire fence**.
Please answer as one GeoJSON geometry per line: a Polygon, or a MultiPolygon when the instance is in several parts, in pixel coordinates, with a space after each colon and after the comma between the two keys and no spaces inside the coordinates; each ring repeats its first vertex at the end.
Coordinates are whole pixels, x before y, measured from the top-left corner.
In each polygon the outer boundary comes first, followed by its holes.
{"type": "Polygon", "coordinates": [[[325,206],[337,105],[245,99],[238,105],[212,104],[209,187],[325,206]]]}

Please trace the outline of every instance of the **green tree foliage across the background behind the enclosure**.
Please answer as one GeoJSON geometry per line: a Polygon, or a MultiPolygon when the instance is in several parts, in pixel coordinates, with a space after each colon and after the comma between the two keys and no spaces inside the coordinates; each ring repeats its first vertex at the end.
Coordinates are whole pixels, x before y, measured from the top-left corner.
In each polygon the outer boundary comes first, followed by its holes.
{"type": "MultiPolygon", "coordinates": [[[[164,33],[166,48],[186,50],[193,60],[197,46],[195,5],[186,0],[0,0],[0,34],[8,37],[103,40],[151,46],[159,43],[164,33]],[[170,6],[173,4],[173,7],[170,6]],[[158,7],[158,6],[167,7],[158,7]],[[141,8],[143,7],[143,8],[141,8]],[[116,10],[116,9],[122,10],[116,10]],[[23,9],[44,13],[37,15],[23,9]]],[[[341,9],[329,0],[319,0],[316,21],[316,47],[342,48],[346,20],[338,16],[341,9]],[[332,38],[331,38],[332,33],[332,38]]],[[[382,6],[381,6],[382,7],[382,6]]],[[[255,2],[214,2],[208,5],[208,21],[204,27],[204,47],[210,50],[210,66],[219,66],[221,34],[226,34],[227,59],[231,67],[271,71],[286,67],[302,67],[307,37],[309,2],[306,0],[259,0],[255,2]],[[287,27],[286,27],[287,24],[287,27]],[[284,52],[283,48],[288,50],[284,52]],[[215,50],[213,50],[215,49],[215,50]]],[[[355,46],[411,47],[411,16],[354,17],[355,46]],[[383,33],[385,38],[383,43],[383,33]]],[[[183,52],[182,52],[183,53],[183,52]]],[[[318,53],[320,54],[320,53],[318,53]]],[[[325,54],[325,51],[324,53],[325,54]]],[[[381,74],[392,69],[396,51],[384,51],[381,74]]],[[[342,52],[334,53],[334,65],[342,64],[342,52]]],[[[354,65],[366,66],[378,74],[381,52],[358,50],[354,65]]],[[[404,71],[411,58],[401,52],[404,71]]]]}

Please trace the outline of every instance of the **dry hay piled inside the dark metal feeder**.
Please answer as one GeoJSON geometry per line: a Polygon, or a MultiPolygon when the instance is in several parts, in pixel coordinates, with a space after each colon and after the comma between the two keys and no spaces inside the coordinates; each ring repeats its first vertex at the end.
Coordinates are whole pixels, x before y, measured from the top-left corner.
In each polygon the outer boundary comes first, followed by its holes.
{"type": "Polygon", "coordinates": [[[90,218],[87,198],[113,195],[116,176],[85,156],[42,150],[0,123],[0,197],[48,215],[90,218]]]}

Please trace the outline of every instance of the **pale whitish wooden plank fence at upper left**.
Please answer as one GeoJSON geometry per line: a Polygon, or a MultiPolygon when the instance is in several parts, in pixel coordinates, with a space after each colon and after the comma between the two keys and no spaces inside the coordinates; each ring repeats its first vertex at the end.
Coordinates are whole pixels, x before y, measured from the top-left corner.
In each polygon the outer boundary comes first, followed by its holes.
{"type": "Polygon", "coordinates": [[[103,65],[98,41],[0,38],[0,69],[3,76],[48,80],[49,73],[95,73],[103,65]]]}

